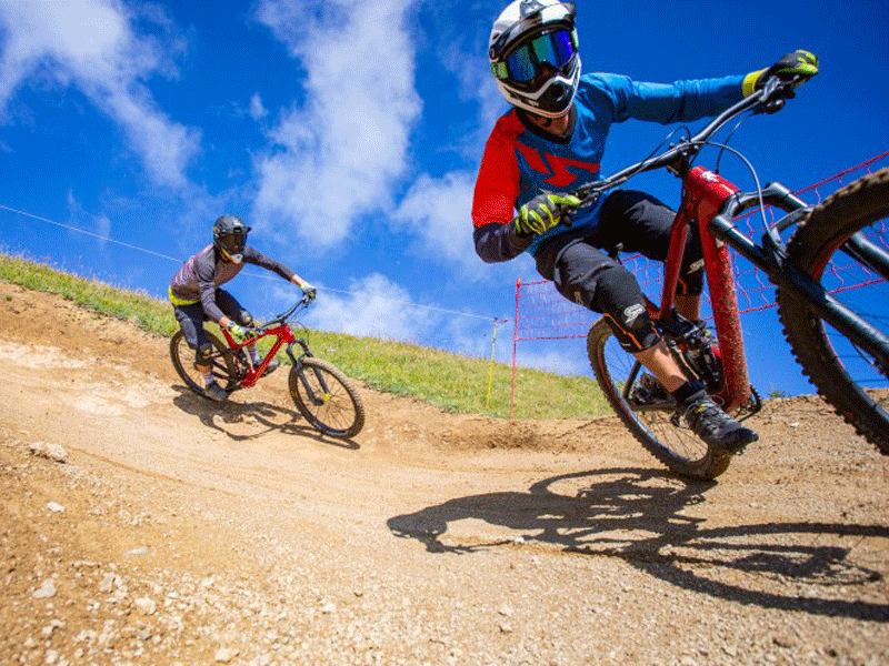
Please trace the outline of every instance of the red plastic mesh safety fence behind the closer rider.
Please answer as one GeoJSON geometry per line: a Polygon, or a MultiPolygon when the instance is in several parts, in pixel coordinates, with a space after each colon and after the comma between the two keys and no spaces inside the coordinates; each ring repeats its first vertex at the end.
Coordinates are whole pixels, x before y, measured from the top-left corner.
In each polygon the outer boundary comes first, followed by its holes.
{"type": "MultiPolygon", "coordinates": [[[[856,167],[847,169],[836,175],[796,192],[797,196],[810,204],[817,204],[831,193],[843,188],[850,182],[872,173],[889,164],[889,151],[871,158],[856,167]]],[[[768,208],[765,211],[766,221],[773,224],[783,211],[768,208]]],[[[736,223],[750,238],[761,236],[763,212],[759,209],[745,213],[736,223]]],[[[646,259],[641,254],[622,258],[623,265],[633,272],[642,291],[649,294],[659,294],[663,276],[663,264],[646,259]]],[[[741,314],[768,310],[776,306],[775,286],[768,276],[749,263],[743,258],[732,252],[735,280],[738,291],[738,309],[741,314]]],[[[875,281],[875,276],[865,271],[859,264],[848,266],[833,266],[837,283],[841,286],[837,291],[855,289],[875,281]]],[[[702,314],[710,316],[709,296],[705,292],[702,300],[702,314]]],[[[510,390],[509,414],[512,417],[512,406],[516,392],[516,370],[518,343],[522,340],[566,340],[586,337],[589,327],[599,317],[595,312],[587,310],[567,300],[556,291],[553,284],[546,280],[522,282],[516,281],[516,317],[512,335],[512,386],[510,390]]]]}

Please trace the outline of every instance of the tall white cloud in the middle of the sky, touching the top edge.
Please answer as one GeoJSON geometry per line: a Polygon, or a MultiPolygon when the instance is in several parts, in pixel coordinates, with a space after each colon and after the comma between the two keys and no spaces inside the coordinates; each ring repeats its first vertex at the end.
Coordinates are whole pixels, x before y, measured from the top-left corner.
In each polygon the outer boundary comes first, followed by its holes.
{"type": "Polygon", "coordinates": [[[282,114],[276,148],[256,159],[256,212],[281,235],[331,246],[358,216],[392,205],[421,108],[406,28],[413,1],[260,3],[259,20],[308,72],[304,103],[282,114]]]}

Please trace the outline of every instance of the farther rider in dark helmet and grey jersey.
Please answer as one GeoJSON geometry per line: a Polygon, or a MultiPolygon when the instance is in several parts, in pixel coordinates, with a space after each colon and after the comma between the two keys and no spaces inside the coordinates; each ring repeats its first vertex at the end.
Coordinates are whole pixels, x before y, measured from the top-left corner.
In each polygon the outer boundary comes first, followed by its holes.
{"type": "MultiPolygon", "coordinates": [[[[203,332],[203,322],[212,320],[221,329],[228,329],[237,341],[250,334],[253,317],[229,292],[219,289],[232,280],[246,263],[272,271],[302,289],[302,293],[314,299],[316,289],[286,265],[269,259],[247,245],[250,228],[237,215],[222,215],[213,223],[213,242],[189,258],[170,282],[169,296],[176,320],[186,336],[188,345],[194,350],[194,365],[203,375],[208,397],[224,401],[228,393],[211,374],[210,355],[212,345],[203,332]]],[[[260,362],[254,344],[247,346],[254,365],[260,362]]],[[[267,373],[278,367],[272,360],[267,373]]]]}

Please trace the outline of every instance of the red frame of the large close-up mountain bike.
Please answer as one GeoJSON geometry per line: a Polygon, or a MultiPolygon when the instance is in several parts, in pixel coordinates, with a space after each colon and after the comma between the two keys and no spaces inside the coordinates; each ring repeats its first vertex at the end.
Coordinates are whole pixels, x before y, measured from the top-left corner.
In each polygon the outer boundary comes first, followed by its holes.
{"type": "Polygon", "coordinates": [[[715,397],[726,411],[731,411],[750,398],[750,376],[743,350],[731,255],[726,243],[711,235],[707,228],[722,204],[738,192],[738,188],[703,167],[691,169],[685,176],[683,184],[682,205],[673,222],[670,251],[663,268],[663,294],[660,309],[653,305],[649,305],[649,307],[652,309],[652,315],[659,319],[667,317],[672,311],[688,226],[697,223],[703,246],[703,265],[707,272],[707,284],[710,289],[722,361],[722,386],[715,397]]]}

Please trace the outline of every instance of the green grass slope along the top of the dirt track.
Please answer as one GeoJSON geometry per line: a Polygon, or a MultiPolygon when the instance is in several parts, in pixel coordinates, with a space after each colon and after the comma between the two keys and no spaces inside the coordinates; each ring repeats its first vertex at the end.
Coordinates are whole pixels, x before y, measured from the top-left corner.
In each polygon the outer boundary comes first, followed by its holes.
{"type": "MultiPolygon", "coordinates": [[[[0,254],[0,280],[59,294],[84,309],[129,321],[159,336],[169,336],[178,327],[167,301],[19,256],[0,254]]],[[[376,390],[427,401],[450,412],[509,416],[510,365],[492,366],[485,359],[373,337],[316,330],[302,335],[317,356],[376,390]]],[[[578,341],[576,346],[578,354],[585,353],[582,342],[578,341]]],[[[513,410],[517,418],[587,418],[608,412],[591,379],[518,369],[513,410]]]]}

